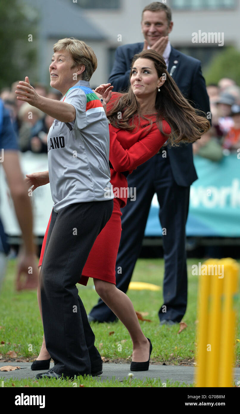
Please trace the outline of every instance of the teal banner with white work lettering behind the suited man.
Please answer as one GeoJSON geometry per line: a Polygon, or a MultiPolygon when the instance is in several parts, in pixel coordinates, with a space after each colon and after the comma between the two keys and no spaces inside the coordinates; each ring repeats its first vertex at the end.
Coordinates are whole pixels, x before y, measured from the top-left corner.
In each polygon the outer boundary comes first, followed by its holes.
{"type": "MultiPolygon", "coordinates": [[[[240,153],[214,162],[194,157],[198,180],[191,185],[187,236],[240,237],[240,153]]],[[[156,198],[145,236],[161,236],[156,198]]]]}

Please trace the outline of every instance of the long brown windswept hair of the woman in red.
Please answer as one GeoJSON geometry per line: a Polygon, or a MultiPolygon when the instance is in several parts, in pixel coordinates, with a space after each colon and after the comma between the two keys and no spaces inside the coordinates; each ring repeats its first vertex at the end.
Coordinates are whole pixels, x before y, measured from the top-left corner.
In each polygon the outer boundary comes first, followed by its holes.
{"type": "MultiPolygon", "coordinates": [[[[201,138],[201,136],[210,128],[210,123],[206,119],[206,114],[203,111],[194,109],[190,103],[182,95],[173,78],[169,75],[165,61],[162,56],[156,51],[149,49],[134,55],[132,60],[132,67],[134,62],[139,59],[150,59],[154,62],[154,66],[158,73],[158,77],[165,76],[165,82],[161,85],[161,91],[156,94],[155,108],[156,108],[156,123],[158,129],[164,135],[162,120],[165,119],[171,127],[168,143],[171,146],[176,146],[180,141],[194,142],[201,138]],[[201,114],[201,116],[200,116],[201,114]]],[[[132,70],[130,72],[130,78],[132,70]]],[[[133,117],[146,119],[150,123],[152,121],[141,114],[139,103],[134,95],[131,86],[128,91],[116,101],[112,108],[107,113],[110,123],[116,128],[125,130],[133,130],[135,124],[133,117]],[[119,119],[121,113],[121,119],[119,119]]],[[[165,134],[166,135],[166,134],[165,134]]]]}

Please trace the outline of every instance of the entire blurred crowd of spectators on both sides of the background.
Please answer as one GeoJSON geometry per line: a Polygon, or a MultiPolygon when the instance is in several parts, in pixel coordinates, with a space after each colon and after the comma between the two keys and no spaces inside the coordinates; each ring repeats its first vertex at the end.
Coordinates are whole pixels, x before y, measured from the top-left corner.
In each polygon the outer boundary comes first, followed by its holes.
{"type": "MultiPolygon", "coordinates": [[[[53,118],[29,103],[16,99],[18,82],[2,89],[0,98],[10,110],[14,130],[22,152],[47,153],[47,135],[53,118]]],[[[33,85],[36,92],[50,99],[60,100],[62,94],[41,84],[33,85]]],[[[212,161],[240,148],[240,87],[233,79],[220,79],[207,86],[211,108],[211,129],[193,144],[193,153],[212,161]]]]}

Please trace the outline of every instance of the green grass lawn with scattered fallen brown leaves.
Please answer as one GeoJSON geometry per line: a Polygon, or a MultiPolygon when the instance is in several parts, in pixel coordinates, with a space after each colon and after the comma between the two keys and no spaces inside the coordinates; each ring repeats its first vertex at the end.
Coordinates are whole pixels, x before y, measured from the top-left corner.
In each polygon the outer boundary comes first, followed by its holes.
{"type": "MultiPolygon", "coordinates": [[[[163,260],[139,259],[137,261],[132,280],[161,286],[161,291],[128,291],[128,296],[132,300],[135,310],[145,313],[146,316],[144,318],[151,320],[151,322],[140,321],[144,335],[149,337],[153,344],[151,363],[165,362],[176,365],[180,363],[191,365],[194,363],[196,353],[198,276],[192,276],[191,271],[192,265],[198,264],[200,261],[199,259],[187,261],[188,305],[187,312],[183,318],[183,321],[187,323],[187,327],[180,334],[178,334],[179,325],[159,326],[158,310],[163,304],[163,260]]],[[[4,342],[4,344],[0,344],[0,356],[4,359],[4,357],[7,357],[8,351],[15,351],[17,359],[29,358],[29,361],[33,361],[41,349],[43,327],[39,315],[36,292],[23,291],[17,293],[14,290],[15,267],[16,260],[10,260],[0,296],[0,342],[4,342]]],[[[79,296],[82,298],[86,311],[89,312],[98,300],[92,279],[89,279],[87,286],[78,285],[78,288],[79,296]]],[[[239,315],[239,298],[237,307],[239,315]]],[[[92,323],[91,326],[96,336],[95,344],[101,356],[104,356],[109,361],[131,361],[132,342],[122,323],[92,323]]],[[[240,339],[239,316],[237,338],[240,339]]],[[[240,366],[240,342],[235,344],[235,351],[236,365],[240,366]]],[[[98,380],[94,379],[94,381],[98,380]]],[[[137,381],[135,380],[135,386],[139,386],[137,381]]],[[[133,384],[134,382],[132,382],[133,384]]],[[[51,386],[50,383],[49,386],[51,386]]],[[[107,386],[115,385],[112,383],[112,385],[107,386]]]]}

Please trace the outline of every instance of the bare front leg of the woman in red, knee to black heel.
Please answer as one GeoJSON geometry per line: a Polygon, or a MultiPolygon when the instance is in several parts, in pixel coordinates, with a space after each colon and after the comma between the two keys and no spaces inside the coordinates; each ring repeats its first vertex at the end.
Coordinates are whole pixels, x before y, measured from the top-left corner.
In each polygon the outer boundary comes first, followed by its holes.
{"type": "Polygon", "coordinates": [[[113,283],[94,279],[96,292],[103,302],[127,328],[132,339],[132,361],[145,362],[149,359],[150,344],[144,336],[130,298],[116,288],[113,283]]]}

